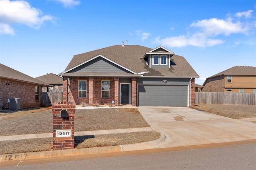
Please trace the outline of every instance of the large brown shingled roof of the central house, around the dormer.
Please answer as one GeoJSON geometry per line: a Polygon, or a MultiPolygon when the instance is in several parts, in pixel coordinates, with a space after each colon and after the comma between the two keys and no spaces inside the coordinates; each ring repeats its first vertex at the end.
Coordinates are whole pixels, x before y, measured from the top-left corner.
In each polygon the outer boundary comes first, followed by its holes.
{"type": "Polygon", "coordinates": [[[89,61],[93,57],[102,55],[111,61],[120,64],[124,68],[132,70],[133,72],[147,72],[146,74],[143,74],[143,76],[199,77],[186,59],[178,55],[173,55],[171,57],[171,68],[150,68],[143,59],[144,55],[150,51],[152,51],[151,48],[140,45],[114,45],[87,53],[74,55],[67,68],[61,73],[61,75],[65,75],[65,72],[68,72],[68,70],[76,68],[76,66],[79,64],[89,61]]]}

